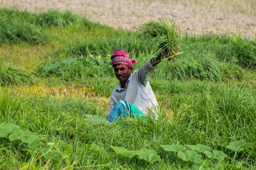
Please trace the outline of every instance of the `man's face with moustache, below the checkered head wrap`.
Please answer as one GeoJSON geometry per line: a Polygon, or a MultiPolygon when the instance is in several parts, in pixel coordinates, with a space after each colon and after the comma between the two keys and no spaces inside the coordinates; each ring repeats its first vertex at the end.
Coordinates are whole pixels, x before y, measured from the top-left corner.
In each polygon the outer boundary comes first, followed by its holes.
{"type": "Polygon", "coordinates": [[[113,68],[115,70],[116,78],[121,83],[126,83],[131,75],[132,67],[127,67],[123,64],[115,64],[113,68]]]}

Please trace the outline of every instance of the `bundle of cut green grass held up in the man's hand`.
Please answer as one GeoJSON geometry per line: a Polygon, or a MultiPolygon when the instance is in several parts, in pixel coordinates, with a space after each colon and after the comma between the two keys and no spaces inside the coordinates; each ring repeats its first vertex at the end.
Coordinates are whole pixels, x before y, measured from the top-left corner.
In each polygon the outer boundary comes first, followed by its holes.
{"type": "Polygon", "coordinates": [[[158,55],[161,53],[164,60],[169,59],[174,64],[179,53],[181,40],[180,29],[175,26],[175,21],[159,19],[160,22],[149,21],[137,30],[134,43],[138,49],[145,49],[147,53],[158,55]]]}

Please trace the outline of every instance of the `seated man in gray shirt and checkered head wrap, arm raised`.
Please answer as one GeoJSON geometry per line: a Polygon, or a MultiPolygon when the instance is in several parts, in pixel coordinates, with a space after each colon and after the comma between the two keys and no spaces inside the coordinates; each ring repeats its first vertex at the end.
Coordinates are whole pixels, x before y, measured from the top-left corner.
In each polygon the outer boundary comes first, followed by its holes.
{"type": "Polygon", "coordinates": [[[110,123],[122,117],[145,117],[151,110],[157,115],[157,101],[148,79],[161,61],[161,55],[152,57],[140,69],[133,73],[136,60],[131,59],[124,49],[116,49],[111,56],[115,75],[119,80],[113,90],[106,120],[110,123]]]}

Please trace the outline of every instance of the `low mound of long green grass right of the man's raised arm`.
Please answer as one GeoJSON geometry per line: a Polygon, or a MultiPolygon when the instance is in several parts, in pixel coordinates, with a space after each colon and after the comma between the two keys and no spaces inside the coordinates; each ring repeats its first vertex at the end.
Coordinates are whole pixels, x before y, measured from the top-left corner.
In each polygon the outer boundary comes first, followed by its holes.
{"type": "Polygon", "coordinates": [[[244,69],[230,63],[219,62],[212,54],[197,54],[198,56],[187,56],[188,60],[177,61],[169,71],[171,79],[178,80],[210,80],[227,82],[230,79],[242,80],[245,75],[244,69]],[[207,56],[206,56],[207,55],[207,56]]]}

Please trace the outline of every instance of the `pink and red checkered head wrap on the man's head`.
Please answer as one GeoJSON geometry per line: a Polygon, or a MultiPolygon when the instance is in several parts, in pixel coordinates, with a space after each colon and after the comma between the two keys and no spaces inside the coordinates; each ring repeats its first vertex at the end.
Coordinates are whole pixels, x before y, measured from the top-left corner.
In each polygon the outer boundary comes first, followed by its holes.
{"type": "Polygon", "coordinates": [[[137,61],[131,59],[129,53],[123,49],[116,49],[111,56],[111,60],[112,66],[115,64],[123,64],[127,67],[132,67],[134,64],[137,63],[137,61]]]}

